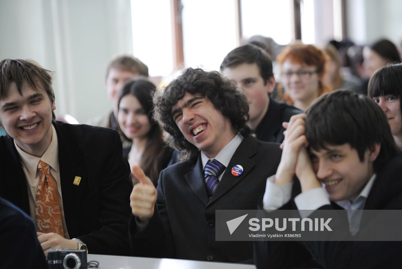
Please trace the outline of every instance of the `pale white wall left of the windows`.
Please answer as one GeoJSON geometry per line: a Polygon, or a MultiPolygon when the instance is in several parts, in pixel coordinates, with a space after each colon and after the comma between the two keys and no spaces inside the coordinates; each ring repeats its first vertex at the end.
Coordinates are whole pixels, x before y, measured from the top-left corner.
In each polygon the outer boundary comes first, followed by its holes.
{"type": "Polygon", "coordinates": [[[111,104],[105,68],[132,54],[129,0],[2,0],[0,58],[30,58],[55,71],[56,114],[80,123],[111,104]]]}

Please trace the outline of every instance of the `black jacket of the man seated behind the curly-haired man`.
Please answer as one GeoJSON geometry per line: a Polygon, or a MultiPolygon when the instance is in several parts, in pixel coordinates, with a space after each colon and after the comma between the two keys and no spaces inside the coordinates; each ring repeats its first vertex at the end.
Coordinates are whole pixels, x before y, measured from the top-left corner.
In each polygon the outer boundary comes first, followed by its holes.
{"type": "Polygon", "coordinates": [[[269,98],[269,106],[264,118],[254,130],[254,134],[258,140],[265,142],[282,143],[285,136],[283,131],[283,122],[289,122],[290,117],[303,111],[289,106],[287,103],[278,103],[271,97],[269,98]]]}

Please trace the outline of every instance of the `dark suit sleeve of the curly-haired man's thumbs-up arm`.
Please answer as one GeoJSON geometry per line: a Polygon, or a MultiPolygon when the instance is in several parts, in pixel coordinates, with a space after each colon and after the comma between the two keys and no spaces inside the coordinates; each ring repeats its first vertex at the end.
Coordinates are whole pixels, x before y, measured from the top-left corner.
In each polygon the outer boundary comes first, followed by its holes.
{"type": "Polygon", "coordinates": [[[154,215],[144,230],[139,230],[135,217],[131,215],[129,222],[129,234],[131,254],[141,257],[174,258],[174,246],[170,232],[169,216],[166,210],[166,203],[163,188],[163,174],[160,172],[158,197],[156,199],[154,215]]]}

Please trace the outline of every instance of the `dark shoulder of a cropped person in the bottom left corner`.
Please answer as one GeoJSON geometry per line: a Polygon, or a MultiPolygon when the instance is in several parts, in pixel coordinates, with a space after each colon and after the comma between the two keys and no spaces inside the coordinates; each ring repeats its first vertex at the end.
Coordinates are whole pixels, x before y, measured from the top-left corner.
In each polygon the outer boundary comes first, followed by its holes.
{"type": "Polygon", "coordinates": [[[46,269],[47,263],[27,215],[0,199],[1,268],[46,269]]]}

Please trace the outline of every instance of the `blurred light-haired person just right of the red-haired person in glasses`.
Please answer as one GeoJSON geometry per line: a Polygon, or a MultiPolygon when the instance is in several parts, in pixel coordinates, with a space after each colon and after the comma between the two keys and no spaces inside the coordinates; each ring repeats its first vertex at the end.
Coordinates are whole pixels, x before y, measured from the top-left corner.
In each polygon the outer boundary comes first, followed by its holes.
{"type": "Polygon", "coordinates": [[[337,89],[351,89],[358,91],[360,81],[354,77],[345,77],[340,73],[341,61],[338,51],[332,44],[324,48],[325,54],[329,57],[325,64],[325,72],[322,81],[333,91],[337,89]]]}

